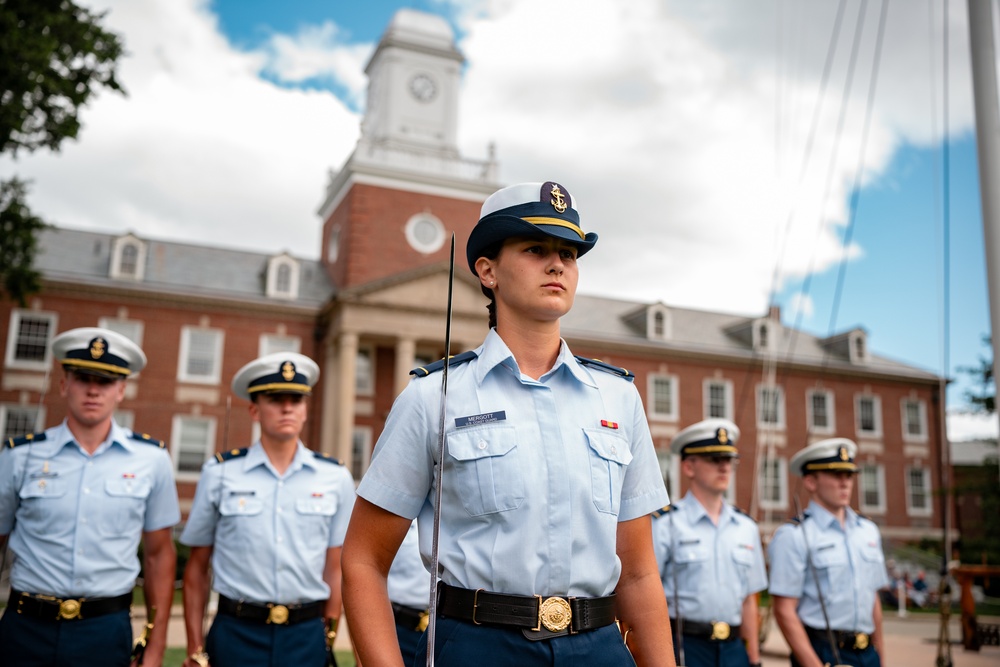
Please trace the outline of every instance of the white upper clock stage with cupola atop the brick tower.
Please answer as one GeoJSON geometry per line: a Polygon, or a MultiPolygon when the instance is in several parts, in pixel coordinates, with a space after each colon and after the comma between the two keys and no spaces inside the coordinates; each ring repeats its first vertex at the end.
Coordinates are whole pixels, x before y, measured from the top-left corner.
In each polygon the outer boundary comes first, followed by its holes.
{"type": "MultiPolygon", "coordinates": [[[[457,157],[462,54],[447,21],[401,9],[368,62],[361,143],[457,157]]],[[[359,146],[360,148],[361,146],[359,146]]]]}

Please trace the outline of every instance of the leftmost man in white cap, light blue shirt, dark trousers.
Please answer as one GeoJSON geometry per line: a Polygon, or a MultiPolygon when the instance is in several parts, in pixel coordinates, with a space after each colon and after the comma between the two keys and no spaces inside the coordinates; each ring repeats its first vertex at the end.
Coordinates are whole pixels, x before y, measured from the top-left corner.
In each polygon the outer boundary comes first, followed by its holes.
{"type": "Polygon", "coordinates": [[[0,541],[10,535],[14,552],[0,662],[128,665],[141,537],[147,608],[159,612],[145,664],[159,665],[177,567],[173,465],[162,442],[113,416],[146,355],[93,327],[59,334],[52,354],[65,371],[66,419],[0,454],[0,541]]]}

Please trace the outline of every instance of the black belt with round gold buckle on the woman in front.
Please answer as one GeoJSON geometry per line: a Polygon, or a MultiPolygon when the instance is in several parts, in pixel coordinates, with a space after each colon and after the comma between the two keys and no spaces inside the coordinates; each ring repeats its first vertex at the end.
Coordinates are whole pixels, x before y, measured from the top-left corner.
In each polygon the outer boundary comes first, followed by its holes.
{"type": "Polygon", "coordinates": [[[477,625],[521,628],[528,639],[596,630],[616,620],[614,594],[601,598],[505,595],[447,584],[438,587],[438,615],[477,625]]]}

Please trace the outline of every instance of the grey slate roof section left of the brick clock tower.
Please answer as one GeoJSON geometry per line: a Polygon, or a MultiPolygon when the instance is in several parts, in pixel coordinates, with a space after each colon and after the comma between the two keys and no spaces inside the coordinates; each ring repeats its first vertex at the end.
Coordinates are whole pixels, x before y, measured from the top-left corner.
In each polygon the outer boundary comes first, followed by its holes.
{"type": "Polygon", "coordinates": [[[314,259],[57,227],[39,235],[35,268],[51,281],[317,309],[335,291],[323,266],[314,259]],[[128,236],[145,246],[138,280],[112,277],[114,243],[128,236]],[[297,263],[299,269],[298,293],[291,298],[267,296],[269,262],[281,256],[297,263]]]}

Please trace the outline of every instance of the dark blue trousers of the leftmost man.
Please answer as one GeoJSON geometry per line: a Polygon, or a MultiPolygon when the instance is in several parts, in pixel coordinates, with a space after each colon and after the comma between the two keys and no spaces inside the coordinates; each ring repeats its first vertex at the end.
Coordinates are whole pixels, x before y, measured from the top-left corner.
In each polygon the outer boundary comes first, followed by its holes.
{"type": "Polygon", "coordinates": [[[0,663],[6,667],[128,667],[128,610],[79,621],[30,618],[8,607],[0,618],[0,663]]]}

